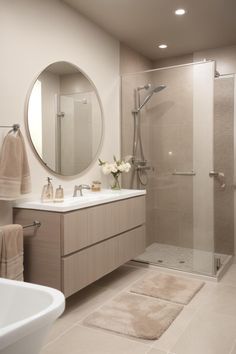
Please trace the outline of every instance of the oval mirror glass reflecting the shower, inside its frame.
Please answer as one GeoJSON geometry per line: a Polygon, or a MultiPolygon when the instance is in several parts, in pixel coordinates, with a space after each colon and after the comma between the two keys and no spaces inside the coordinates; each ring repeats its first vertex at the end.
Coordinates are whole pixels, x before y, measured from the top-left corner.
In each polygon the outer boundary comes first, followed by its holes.
{"type": "Polygon", "coordinates": [[[44,166],[63,176],[81,173],[102,140],[102,109],[93,83],[73,64],[49,65],[33,85],[27,125],[44,166]]]}

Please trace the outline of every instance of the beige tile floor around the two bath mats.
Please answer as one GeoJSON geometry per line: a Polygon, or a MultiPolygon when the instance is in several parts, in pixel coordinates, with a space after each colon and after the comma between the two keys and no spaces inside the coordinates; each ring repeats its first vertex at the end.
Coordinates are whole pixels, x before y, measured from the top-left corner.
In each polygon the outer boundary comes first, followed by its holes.
{"type": "Polygon", "coordinates": [[[236,264],[219,283],[205,281],[159,340],[83,325],[89,313],[150,271],[125,265],[70,297],[41,354],[236,354],[236,264]]]}

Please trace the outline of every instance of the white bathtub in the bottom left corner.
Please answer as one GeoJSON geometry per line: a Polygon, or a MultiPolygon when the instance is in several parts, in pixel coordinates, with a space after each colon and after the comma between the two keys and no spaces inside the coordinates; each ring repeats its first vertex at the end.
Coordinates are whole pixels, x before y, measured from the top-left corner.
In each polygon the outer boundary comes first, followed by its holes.
{"type": "Polygon", "coordinates": [[[0,353],[38,354],[64,308],[56,289],[0,278],[0,353]]]}

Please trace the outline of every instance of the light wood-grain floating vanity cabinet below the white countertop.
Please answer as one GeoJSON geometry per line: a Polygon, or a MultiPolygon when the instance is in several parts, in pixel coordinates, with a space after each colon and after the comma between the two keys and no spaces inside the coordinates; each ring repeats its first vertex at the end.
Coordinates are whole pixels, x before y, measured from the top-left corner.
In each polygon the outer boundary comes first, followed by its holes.
{"type": "Polygon", "coordinates": [[[24,230],[25,281],[51,286],[66,297],[145,249],[145,196],[70,212],[14,208],[14,222],[41,221],[24,230]]]}

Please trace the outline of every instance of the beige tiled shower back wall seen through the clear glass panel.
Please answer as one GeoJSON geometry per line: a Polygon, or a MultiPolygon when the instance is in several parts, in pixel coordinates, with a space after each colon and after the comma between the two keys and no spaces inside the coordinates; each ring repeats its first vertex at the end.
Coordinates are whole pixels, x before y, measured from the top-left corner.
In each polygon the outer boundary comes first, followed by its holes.
{"type": "Polygon", "coordinates": [[[160,243],[192,247],[193,177],[172,173],[193,168],[193,69],[157,71],[154,81],[166,89],[149,106],[153,235],[160,243]]]}

